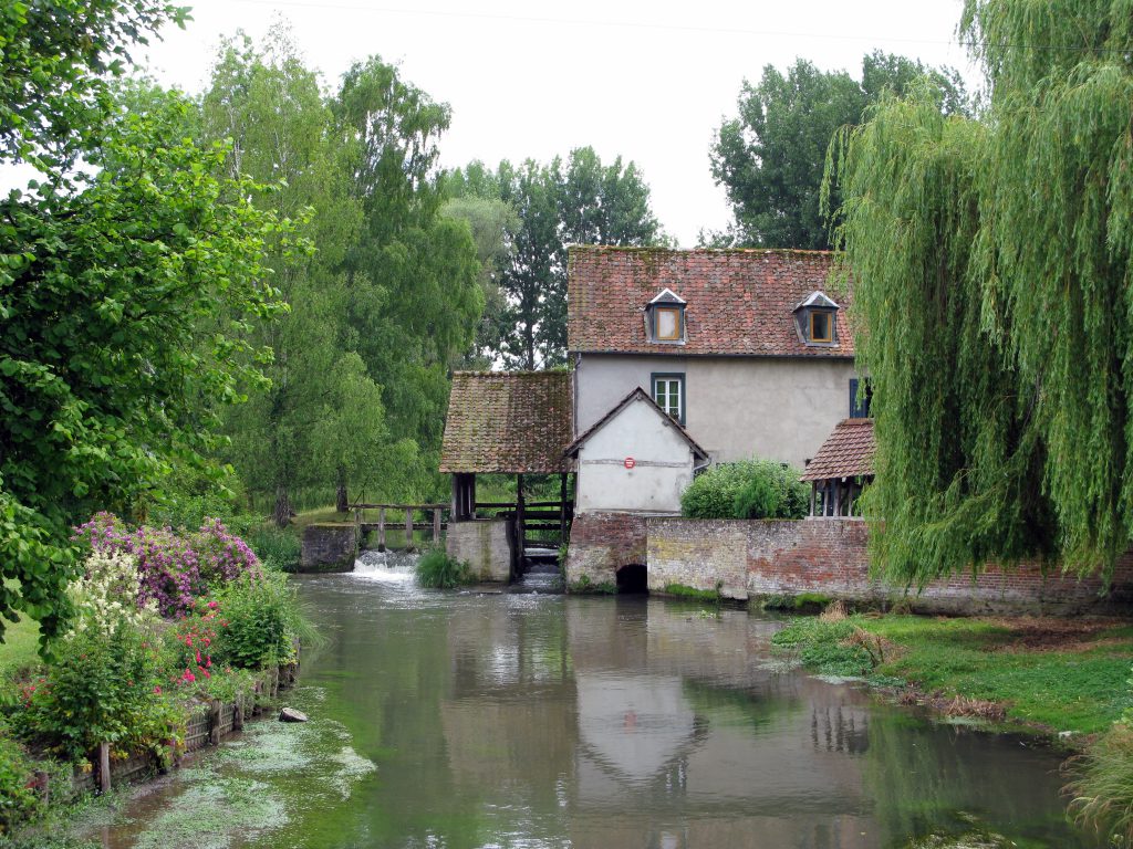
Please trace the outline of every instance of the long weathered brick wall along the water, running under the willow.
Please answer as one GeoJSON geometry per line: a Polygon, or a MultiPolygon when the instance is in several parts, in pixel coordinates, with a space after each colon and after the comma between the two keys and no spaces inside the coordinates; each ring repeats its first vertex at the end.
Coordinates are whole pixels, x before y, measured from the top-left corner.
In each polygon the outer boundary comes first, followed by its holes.
{"type": "Polygon", "coordinates": [[[1118,563],[1110,594],[1101,582],[1038,566],[1015,569],[989,566],[978,580],[970,574],[936,581],[918,592],[870,580],[866,523],[847,518],[798,522],[691,520],[628,514],[586,514],[574,520],[568,582],[581,575],[591,583],[614,581],[631,563],[648,567],[650,592],[683,584],[719,589],[726,598],[819,593],[859,602],[891,604],[906,600],[925,612],[1075,614],[1126,609],[1133,603],[1133,554],[1118,563]]]}

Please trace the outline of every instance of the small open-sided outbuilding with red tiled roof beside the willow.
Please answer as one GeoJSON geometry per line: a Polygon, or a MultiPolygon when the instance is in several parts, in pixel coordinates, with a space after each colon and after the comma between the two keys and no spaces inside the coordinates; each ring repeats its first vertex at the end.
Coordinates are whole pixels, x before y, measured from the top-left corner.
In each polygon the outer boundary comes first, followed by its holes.
{"type": "Polygon", "coordinates": [[[874,480],[874,420],[843,419],[807,464],[811,516],[858,515],[862,489],[874,480]]]}

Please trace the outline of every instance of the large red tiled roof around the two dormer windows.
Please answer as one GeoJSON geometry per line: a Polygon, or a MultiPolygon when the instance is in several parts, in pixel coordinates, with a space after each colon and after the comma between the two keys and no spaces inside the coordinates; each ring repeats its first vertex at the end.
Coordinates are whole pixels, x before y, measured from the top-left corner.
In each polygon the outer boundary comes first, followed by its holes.
{"type": "Polygon", "coordinates": [[[853,357],[843,308],[837,345],[808,346],[793,312],[827,289],[833,254],[812,250],[670,250],[571,246],[566,346],[581,352],[853,357]],[[642,311],[663,289],[688,302],[688,341],[649,342],[642,311]]]}

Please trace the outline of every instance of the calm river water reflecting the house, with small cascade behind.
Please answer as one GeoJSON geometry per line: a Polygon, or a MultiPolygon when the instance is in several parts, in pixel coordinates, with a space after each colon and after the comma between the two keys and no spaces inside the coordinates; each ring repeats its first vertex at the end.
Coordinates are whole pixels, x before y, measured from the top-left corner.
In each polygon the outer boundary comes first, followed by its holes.
{"type": "Polygon", "coordinates": [[[111,849],[1096,847],[1059,756],[784,671],[774,618],[298,577],[327,637],[289,703],[140,792],[111,849]],[[182,842],[184,841],[184,842],[182,842]]]}

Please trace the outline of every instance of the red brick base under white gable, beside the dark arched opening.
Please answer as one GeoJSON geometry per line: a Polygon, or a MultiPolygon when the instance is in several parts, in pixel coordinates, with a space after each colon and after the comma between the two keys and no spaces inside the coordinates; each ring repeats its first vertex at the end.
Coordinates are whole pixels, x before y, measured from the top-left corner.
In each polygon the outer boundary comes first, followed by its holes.
{"type": "Polygon", "coordinates": [[[646,517],[633,513],[580,513],[570,529],[566,586],[613,589],[617,569],[646,564],[646,517]]]}

